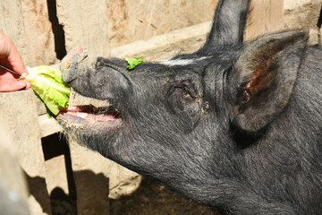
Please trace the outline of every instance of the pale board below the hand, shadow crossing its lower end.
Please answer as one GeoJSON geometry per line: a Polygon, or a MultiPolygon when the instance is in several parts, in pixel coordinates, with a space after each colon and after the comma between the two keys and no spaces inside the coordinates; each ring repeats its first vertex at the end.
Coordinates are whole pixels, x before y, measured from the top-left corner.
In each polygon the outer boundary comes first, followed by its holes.
{"type": "MultiPolygon", "coordinates": [[[[30,214],[51,214],[44,154],[38,125],[37,98],[33,91],[0,94],[1,130],[13,140],[13,149],[29,187],[30,214]]],[[[18,213],[19,214],[19,213],[18,213]]]]}

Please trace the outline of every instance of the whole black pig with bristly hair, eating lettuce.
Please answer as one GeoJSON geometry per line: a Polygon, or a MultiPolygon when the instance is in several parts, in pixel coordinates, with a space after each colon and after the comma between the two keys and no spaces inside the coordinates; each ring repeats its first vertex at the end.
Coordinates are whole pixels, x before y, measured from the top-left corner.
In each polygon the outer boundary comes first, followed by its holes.
{"type": "MultiPolygon", "coordinates": [[[[223,214],[321,214],[322,51],[305,30],[243,41],[221,0],[203,47],[132,70],[69,56],[64,82],[109,107],[56,116],[84,146],[223,214]]],[[[139,47],[138,47],[139,48],[139,47]]]]}

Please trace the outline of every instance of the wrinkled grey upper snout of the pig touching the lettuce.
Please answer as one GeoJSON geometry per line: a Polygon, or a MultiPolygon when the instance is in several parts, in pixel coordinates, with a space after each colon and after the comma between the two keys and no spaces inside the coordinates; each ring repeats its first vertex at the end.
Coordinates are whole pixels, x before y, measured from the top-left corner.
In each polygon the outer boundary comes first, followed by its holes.
{"type": "Polygon", "coordinates": [[[72,64],[63,72],[63,80],[83,96],[117,103],[131,91],[131,80],[122,60],[111,58],[88,66],[80,62],[79,55],[72,58],[72,64]]]}

